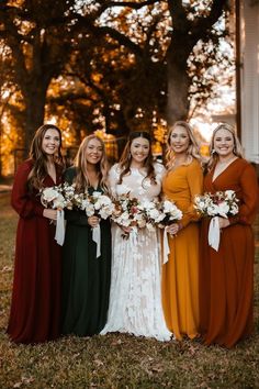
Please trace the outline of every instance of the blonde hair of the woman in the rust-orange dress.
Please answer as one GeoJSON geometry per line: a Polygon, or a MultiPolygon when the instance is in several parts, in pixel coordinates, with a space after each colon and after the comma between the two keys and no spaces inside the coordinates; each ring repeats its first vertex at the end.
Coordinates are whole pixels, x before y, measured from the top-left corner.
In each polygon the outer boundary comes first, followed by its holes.
{"type": "Polygon", "coordinates": [[[215,141],[216,133],[219,130],[227,130],[233,135],[233,140],[234,140],[233,153],[237,157],[244,158],[243,147],[241,147],[241,144],[237,137],[235,127],[228,123],[221,123],[216,126],[216,129],[213,131],[213,134],[212,134],[211,143],[210,143],[210,147],[209,147],[209,149],[210,149],[210,159],[207,162],[207,169],[209,170],[216,164],[216,162],[218,159],[218,155],[214,151],[214,141],[215,141]]]}

